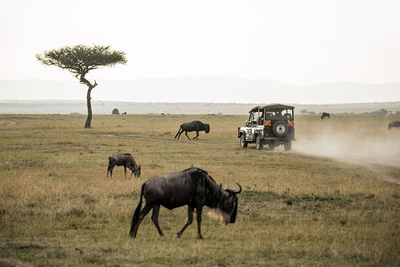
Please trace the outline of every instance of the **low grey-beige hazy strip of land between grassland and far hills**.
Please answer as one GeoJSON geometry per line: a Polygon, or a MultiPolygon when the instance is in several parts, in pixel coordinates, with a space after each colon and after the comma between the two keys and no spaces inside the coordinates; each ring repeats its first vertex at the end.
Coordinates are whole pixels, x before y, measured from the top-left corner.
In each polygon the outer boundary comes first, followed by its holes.
{"type": "MultiPolygon", "coordinates": [[[[114,108],[120,113],[128,114],[223,114],[243,115],[256,105],[266,103],[138,103],[123,101],[104,101],[92,99],[94,114],[111,114],[114,108]]],[[[374,112],[380,109],[396,114],[400,111],[400,101],[354,103],[354,104],[325,104],[306,105],[292,104],[297,114],[306,110],[308,113],[329,112],[332,114],[374,112]]],[[[87,114],[85,100],[0,100],[0,114],[87,114]]]]}

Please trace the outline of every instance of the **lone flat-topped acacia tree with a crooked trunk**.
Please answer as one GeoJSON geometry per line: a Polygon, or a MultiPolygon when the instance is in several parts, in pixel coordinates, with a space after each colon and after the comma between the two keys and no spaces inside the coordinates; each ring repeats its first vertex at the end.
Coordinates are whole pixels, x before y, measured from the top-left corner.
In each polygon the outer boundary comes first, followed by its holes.
{"type": "Polygon", "coordinates": [[[76,45],[63,47],[50,51],[44,51],[36,55],[37,60],[47,66],[57,66],[70,71],[79,82],[87,85],[87,108],[88,117],[85,128],[90,128],[92,122],[91,92],[97,86],[96,80],[90,83],[85,75],[91,70],[102,67],[113,67],[116,64],[126,64],[128,61],[124,52],[111,51],[110,46],[94,45],[92,47],[76,45]]]}

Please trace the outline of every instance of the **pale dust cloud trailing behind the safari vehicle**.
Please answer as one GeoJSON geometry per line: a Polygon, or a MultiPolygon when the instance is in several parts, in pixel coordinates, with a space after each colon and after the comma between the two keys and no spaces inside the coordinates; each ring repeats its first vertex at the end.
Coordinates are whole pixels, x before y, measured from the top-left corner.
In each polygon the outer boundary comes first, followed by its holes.
{"type": "Polygon", "coordinates": [[[366,166],[400,168],[400,131],[386,122],[299,123],[293,152],[366,166]]]}

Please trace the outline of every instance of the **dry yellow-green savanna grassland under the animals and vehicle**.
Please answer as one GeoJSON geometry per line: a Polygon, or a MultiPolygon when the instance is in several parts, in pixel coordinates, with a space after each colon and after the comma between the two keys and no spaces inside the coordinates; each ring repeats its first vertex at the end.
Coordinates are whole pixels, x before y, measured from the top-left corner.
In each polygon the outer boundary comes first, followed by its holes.
{"type": "Polygon", "coordinates": [[[399,167],[328,157],[344,147],[379,158],[380,144],[399,156],[400,131],[387,130],[398,117],[297,116],[291,152],[241,149],[237,127],[246,116],[95,115],[91,129],[85,118],[0,115],[0,266],[400,264],[399,167]],[[210,133],[174,140],[195,119],[210,133]],[[123,167],[107,179],[117,152],[142,164],[140,179],[125,179],[123,167]],[[162,208],[164,238],[150,215],[129,238],[141,184],[192,166],[224,188],[243,186],[236,223],[221,225],[206,209],[204,239],[196,222],[177,239],[187,209],[162,208]]]}

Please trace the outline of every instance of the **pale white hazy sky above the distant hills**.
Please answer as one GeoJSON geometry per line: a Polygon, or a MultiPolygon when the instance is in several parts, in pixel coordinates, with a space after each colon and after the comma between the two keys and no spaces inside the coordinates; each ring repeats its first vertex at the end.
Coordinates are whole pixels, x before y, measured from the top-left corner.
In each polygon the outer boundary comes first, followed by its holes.
{"type": "Polygon", "coordinates": [[[128,64],[89,79],[400,81],[399,0],[0,0],[0,25],[0,79],[74,80],[35,54],[98,44],[128,64]]]}

